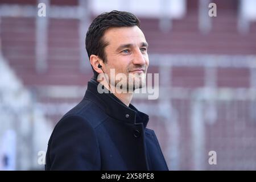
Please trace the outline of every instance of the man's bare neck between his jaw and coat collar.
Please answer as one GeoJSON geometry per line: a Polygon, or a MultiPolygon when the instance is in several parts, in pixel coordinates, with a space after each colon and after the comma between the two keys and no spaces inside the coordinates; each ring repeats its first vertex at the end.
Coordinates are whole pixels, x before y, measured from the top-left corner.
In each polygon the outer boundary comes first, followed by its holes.
{"type": "Polygon", "coordinates": [[[114,90],[114,86],[111,86],[111,88],[109,88],[109,84],[105,80],[104,81],[97,80],[97,81],[100,82],[102,85],[104,85],[104,87],[108,89],[111,93],[113,90],[114,96],[117,97],[120,101],[122,101],[123,104],[125,104],[127,107],[129,107],[131,99],[133,98],[133,93],[117,92],[117,90],[114,90]]]}

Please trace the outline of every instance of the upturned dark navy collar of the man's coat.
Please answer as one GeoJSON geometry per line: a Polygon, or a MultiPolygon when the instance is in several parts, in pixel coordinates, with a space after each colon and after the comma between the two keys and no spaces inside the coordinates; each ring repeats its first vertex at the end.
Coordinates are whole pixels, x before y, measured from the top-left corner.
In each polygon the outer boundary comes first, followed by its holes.
{"type": "MultiPolygon", "coordinates": [[[[123,104],[122,101],[115,97],[113,93],[98,93],[98,84],[100,83],[92,78],[88,82],[88,87],[84,98],[96,103],[101,107],[101,109],[105,110],[106,114],[112,118],[128,123],[143,123],[144,127],[147,126],[147,114],[137,110],[136,107],[131,104],[129,107],[127,107],[125,104],[123,104]]],[[[104,88],[104,86],[101,84],[99,86],[104,88]]],[[[106,91],[108,90],[106,89],[106,91]]]]}

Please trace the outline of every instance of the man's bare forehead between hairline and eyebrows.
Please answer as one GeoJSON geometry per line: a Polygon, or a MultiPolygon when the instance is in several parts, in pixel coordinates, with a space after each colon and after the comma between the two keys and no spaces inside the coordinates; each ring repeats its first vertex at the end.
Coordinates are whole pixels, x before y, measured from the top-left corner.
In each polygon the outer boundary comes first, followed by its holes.
{"type": "Polygon", "coordinates": [[[109,28],[104,34],[104,40],[109,43],[109,46],[146,42],[143,32],[137,26],[109,28]]]}

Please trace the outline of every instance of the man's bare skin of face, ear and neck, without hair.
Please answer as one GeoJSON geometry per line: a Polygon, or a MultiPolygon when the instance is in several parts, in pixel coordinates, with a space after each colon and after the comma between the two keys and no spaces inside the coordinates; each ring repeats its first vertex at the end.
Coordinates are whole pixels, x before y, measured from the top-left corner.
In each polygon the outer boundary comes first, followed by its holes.
{"type": "Polygon", "coordinates": [[[129,106],[133,91],[146,86],[148,44],[144,34],[138,26],[114,27],[106,30],[102,39],[108,45],[105,47],[107,55],[105,59],[90,55],[90,64],[97,73],[105,73],[98,77],[103,78],[101,84],[111,87],[109,90],[129,106]]]}

